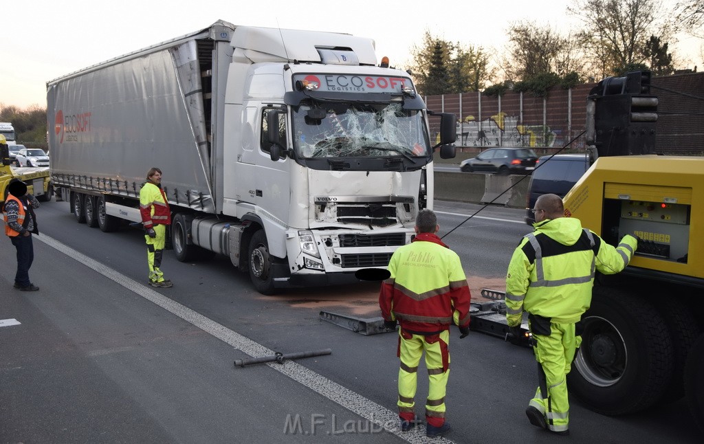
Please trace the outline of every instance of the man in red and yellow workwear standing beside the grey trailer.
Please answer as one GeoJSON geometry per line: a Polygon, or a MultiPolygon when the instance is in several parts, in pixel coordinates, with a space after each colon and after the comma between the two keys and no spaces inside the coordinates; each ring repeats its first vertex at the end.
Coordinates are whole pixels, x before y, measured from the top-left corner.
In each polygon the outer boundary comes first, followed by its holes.
{"type": "Polygon", "coordinates": [[[146,234],[146,257],[149,261],[149,285],[168,288],[173,284],[164,279],[161,272],[161,258],[166,239],[166,226],[171,224],[171,210],[166,194],[161,189],[161,170],[151,168],[146,173],[146,182],[139,190],[139,213],[146,234]]]}

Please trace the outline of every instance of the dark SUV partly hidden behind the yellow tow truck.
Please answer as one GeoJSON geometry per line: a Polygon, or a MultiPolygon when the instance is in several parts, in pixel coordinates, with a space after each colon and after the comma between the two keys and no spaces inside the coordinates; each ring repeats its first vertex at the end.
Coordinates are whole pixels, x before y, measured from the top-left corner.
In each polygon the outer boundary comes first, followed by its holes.
{"type": "Polygon", "coordinates": [[[589,170],[589,166],[589,156],[586,154],[558,154],[553,158],[539,158],[528,184],[525,222],[529,225],[535,223],[531,209],[539,196],[552,193],[565,197],[584,172],[589,170]]]}

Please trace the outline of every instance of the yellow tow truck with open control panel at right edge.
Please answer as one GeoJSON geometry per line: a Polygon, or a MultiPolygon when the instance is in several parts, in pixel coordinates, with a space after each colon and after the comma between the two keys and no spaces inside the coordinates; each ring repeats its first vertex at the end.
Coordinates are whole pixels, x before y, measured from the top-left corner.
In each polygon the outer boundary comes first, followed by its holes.
{"type": "Polygon", "coordinates": [[[648,80],[610,77],[588,98],[597,159],[565,196],[565,216],[608,243],[631,234],[639,244],[622,273],[596,277],[568,386],[604,414],[684,395],[704,429],[704,157],[653,154],[648,80]]]}

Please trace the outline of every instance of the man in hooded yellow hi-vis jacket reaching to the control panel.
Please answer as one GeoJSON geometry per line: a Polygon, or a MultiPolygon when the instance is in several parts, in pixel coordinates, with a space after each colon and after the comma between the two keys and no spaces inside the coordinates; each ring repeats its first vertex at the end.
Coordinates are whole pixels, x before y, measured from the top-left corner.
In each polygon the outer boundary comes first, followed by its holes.
{"type": "Polygon", "coordinates": [[[522,312],[528,313],[536,360],[541,364],[540,384],[526,414],[531,424],[567,435],[570,403],[567,373],[582,338],[575,335],[591,305],[594,273],[621,272],[638,246],[626,235],[615,248],[582,222],[564,217],[562,199],[540,196],[533,209],[535,231],[524,236],[513,252],[506,275],[506,320],[520,334],[522,312]]]}

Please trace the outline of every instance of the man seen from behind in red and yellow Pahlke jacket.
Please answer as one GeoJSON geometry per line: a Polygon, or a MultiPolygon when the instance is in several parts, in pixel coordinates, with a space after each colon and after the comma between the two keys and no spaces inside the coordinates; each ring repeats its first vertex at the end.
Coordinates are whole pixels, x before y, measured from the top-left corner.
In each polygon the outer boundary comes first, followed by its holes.
{"type": "Polygon", "coordinates": [[[398,416],[401,430],[413,429],[417,370],[425,350],[429,388],[425,402],[426,433],[442,436],[450,430],[445,421],[445,389],[450,374],[450,325],[460,327],[460,338],[470,331],[470,288],[460,258],[438,236],[437,217],[421,210],[412,243],[394,252],[390,277],[382,283],[379,307],[387,328],[398,329],[398,416]]]}

